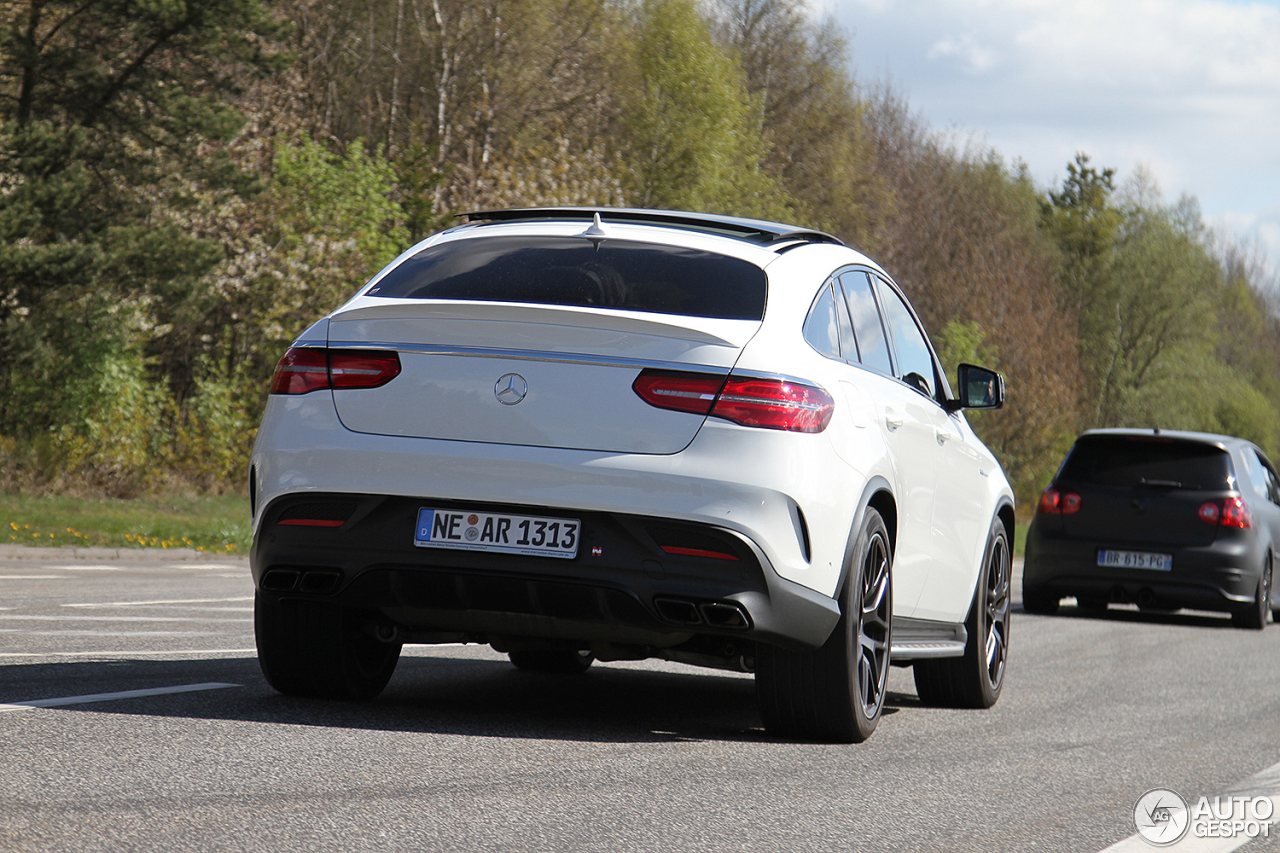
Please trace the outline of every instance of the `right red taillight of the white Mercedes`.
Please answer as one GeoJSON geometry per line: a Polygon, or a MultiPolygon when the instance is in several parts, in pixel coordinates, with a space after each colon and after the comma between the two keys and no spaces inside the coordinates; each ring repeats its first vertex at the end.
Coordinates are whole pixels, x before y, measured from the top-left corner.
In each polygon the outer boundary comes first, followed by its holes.
{"type": "Polygon", "coordinates": [[[796,433],[820,433],[836,409],[836,401],[822,388],[785,379],[644,370],[631,388],[658,409],[796,433]]]}

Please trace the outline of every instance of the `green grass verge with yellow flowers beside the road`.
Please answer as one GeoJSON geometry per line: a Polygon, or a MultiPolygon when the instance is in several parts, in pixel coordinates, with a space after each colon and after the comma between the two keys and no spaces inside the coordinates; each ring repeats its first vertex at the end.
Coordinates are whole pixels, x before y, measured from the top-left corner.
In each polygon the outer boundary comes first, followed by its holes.
{"type": "Polygon", "coordinates": [[[0,493],[0,544],[248,553],[248,498],[74,498],[0,493]]]}

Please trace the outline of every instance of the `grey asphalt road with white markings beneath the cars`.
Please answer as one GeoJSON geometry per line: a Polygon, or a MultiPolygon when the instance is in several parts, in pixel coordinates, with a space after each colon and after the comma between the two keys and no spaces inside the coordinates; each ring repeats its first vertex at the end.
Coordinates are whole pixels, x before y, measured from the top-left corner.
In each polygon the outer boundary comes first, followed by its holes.
{"type": "Polygon", "coordinates": [[[374,702],[282,697],[243,560],[9,551],[0,590],[0,850],[1156,849],[1152,788],[1280,793],[1280,625],[1019,611],[995,708],[895,669],[874,736],[828,745],[676,663],[411,647],[374,702]]]}

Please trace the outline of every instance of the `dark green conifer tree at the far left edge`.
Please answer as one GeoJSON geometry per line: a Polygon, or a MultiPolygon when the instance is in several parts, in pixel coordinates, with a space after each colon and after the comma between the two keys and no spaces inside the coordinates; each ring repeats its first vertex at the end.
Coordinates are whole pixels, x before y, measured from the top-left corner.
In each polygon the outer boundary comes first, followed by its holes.
{"type": "Polygon", "coordinates": [[[137,384],[152,307],[220,260],[174,215],[201,193],[250,191],[221,152],[238,127],[227,99],[270,67],[275,26],[257,0],[22,0],[4,13],[0,434],[123,483],[137,453],[73,444],[101,424],[147,425],[134,402],[155,400],[137,384]]]}

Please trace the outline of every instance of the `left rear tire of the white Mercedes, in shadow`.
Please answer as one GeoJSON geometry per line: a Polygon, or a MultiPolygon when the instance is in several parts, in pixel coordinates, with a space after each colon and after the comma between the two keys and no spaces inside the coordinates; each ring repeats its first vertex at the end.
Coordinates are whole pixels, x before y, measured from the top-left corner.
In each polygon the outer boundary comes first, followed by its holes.
{"type": "Polygon", "coordinates": [[[262,675],[287,695],[371,699],[396,671],[401,644],[375,638],[370,622],[351,607],[257,593],[253,633],[262,675]]]}

